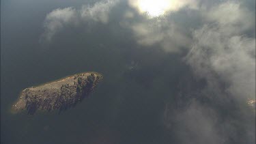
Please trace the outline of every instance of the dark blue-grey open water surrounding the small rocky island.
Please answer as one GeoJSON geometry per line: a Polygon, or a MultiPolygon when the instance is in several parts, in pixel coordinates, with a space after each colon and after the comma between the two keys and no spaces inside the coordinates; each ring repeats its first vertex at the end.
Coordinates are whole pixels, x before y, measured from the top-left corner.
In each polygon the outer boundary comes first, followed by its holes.
{"type": "Polygon", "coordinates": [[[162,119],[173,93],[169,82],[182,70],[173,69],[177,57],[138,48],[115,24],[62,31],[40,44],[44,17],[59,3],[3,1],[1,7],[1,143],[168,142],[162,119]],[[133,63],[137,72],[128,70],[133,63]],[[86,71],[102,73],[104,81],[74,109],[10,113],[22,89],[86,71]]]}

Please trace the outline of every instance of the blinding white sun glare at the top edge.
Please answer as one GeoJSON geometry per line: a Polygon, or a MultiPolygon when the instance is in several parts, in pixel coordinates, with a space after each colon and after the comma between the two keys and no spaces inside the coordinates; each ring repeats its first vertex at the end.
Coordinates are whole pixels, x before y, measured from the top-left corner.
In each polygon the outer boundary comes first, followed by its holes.
{"type": "Polygon", "coordinates": [[[140,12],[146,12],[152,17],[165,14],[171,7],[170,0],[137,0],[133,4],[137,6],[140,12]]]}

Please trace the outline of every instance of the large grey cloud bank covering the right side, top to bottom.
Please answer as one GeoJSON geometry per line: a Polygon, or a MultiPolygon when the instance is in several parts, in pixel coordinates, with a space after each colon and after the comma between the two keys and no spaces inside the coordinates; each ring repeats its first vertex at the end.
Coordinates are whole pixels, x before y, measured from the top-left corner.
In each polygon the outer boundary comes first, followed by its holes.
{"type": "MultiPolygon", "coordinates": [[[[200,25],[189,25],[190,31],[184,33],[190,40],[184,60],[193,75],[180,79],[182,88],[165,109],[165,126],[179,143],[255,143],[255,111],[246,107],[246,100],[255,99],[255,36],[250,34],[255,14],[237,1],[196,11],[200,25]]],[[[187,29],[177,21],[167,21],[171,24],[179,27],[178,32],[187,29]]],[[[171,37],[163,35],[156,42],[173,44],[171,37]]]]}

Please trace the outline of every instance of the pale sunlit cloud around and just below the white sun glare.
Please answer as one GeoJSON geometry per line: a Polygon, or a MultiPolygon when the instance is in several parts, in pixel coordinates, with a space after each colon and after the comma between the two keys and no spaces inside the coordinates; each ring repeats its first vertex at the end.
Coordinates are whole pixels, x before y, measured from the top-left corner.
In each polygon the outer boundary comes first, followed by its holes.
{"type": "MultiPolygon", "coordinates": [[[[197,10],[199,8],[199,1],[171,1],[169,3],[169,1],[163,0],[154,3],[154,1],[129,0],[128,2],[132,8],[135,8],[135,10],[139,12],[140,19],[134,21],[134,15],[137,13],[126,12],[124,14],[124,20],[122,20],[120,24],[122,27],[132,30],[137,44],[145,47],[157,45],[168,53],[180,53],[184,49],[189,48],[190,44],[192,44],[193,41],[190,37],[191,27],[184,27],[184,25],[190,23],[191,20],[184,20],[184,23],[180,25],[180,23],[174,20],[174,17],[179,16],[179,12],[182,8],[186,8],[186,10],[197,10]],[[147,12],[147,10],[158,12],[156,9],[158,6],[157,3],[161,2],[170,4],[167,5],[165,14],[160,14],[156,17],[149,16],[148,13],[150,12],[147,12]],[[144,7],[145,10],[142,10],[141,8],[144,7]],[[173,14],[175,14],[175,16],[173,16],[173,14]]],[[[163,10],[163,8],[161,8],[161,10],[163,10]]],[[[182,15],[180,14],[180,16],[182,15]]]]}

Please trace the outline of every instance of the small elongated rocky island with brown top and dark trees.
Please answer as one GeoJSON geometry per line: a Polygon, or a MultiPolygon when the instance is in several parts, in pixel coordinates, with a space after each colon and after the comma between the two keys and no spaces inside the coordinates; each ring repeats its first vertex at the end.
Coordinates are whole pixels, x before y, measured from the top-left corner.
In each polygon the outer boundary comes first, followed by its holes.
{"type": "Polygon", "coordinates": [[[102,78],[102,75],[96,72],[86,72],[38,87],[26,88],[21,91],[18,101],[12,105],[12,112],[27,109],[28,113],[33,115],[37,110],[68,109],[88,96],[102,78]]]}

